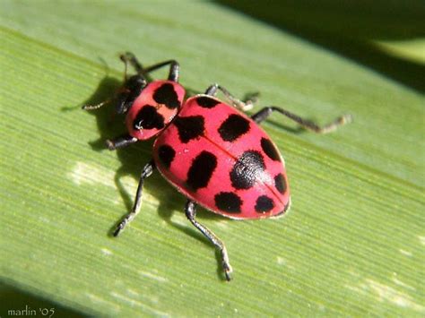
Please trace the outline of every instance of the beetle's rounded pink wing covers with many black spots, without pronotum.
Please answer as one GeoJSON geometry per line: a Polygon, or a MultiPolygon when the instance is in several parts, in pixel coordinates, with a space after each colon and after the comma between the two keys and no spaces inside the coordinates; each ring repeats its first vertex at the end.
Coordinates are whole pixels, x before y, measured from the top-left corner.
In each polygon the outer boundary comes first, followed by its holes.
{"type": "Polygon", "coordinates": [[[290,190],[279,151],[256,122],[219,99],[187,99],[158,136],[153,156],[171,185],[215,213],[260,219],[282,215],[289,208],[290,190]],[[221,200],[229,198],[231,202],[221,200]]]}

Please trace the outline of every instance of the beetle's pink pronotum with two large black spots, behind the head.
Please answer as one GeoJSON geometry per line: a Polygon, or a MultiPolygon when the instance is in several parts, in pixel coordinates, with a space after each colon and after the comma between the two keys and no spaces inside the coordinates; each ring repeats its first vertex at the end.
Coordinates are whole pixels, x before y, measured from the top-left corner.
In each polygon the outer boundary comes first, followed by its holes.
{"type": "MultiPolygon", "coordinates": [[[[126,115],[128,133],[138,140],[146,140],[160,133],[160,131],[169,125],[169,122],[178,114],[178,110],[181,107],[184,98],[185,89],[178,84],[178,82],[150,82],[143,88],[141,94],[134,100],[132,107],[128,110],[126,115]],[[163,89],[169,89],[165,90],[165,92],[167,93],[171,91],[174,94],[173,98],[175,99],[175,102],[172,105],[168,105],[166,102],[164,103],[158,98],[155,100],[155,96],[158,95],[158,93],[161,94],[161,90],[162,92],[164,91],[163,89]],[[162,123],[160,123],[160,125],[152,126],[151,129],[136,129],[134,127],[134,121],[138,116],[143,114],[143,112],[146,112],[148,108],[152,109],[153,115],[163,118],[161,119],[162,123]]],[[[163,96],[162,99],[167,100],[167,96],[163,96]]],[[[152,116],[152,112],[148,115],[152,116]]]]}

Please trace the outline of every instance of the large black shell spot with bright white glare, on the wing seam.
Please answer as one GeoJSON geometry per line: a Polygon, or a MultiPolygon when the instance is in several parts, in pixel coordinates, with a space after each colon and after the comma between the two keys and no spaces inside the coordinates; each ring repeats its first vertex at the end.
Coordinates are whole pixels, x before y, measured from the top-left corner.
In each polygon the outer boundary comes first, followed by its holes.
{"type": "Polygon", "coordinates": [[[245,151],[230,171],[231,185],[236,189],[249,189],[265,170],[265,160],[255,150],[245,151]]]}

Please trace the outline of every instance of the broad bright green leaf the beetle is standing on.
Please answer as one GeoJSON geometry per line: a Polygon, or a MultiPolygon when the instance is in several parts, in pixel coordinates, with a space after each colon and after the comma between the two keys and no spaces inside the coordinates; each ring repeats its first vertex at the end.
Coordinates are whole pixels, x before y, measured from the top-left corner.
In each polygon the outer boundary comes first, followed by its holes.
{"type": "MultiPolygon", "coordinates": [[[[212,3],[2,1],[0,17],[0,275],[7,288],[48,301],[32,308],[424,314],[425,116],[421,86],[403,80],[410,73],[386,73],[373,60],[212,3]],[[126,50],[146,65],[176,58],[190,90],[219,82],[236,96],[260,91],[259,106],[321,124],[354,116],[329,135],[299,132],[279,115],[265,123],[286,159],[289,215],[239,222],[199,214],[228,247],[230,283],[212,245],[186,220],[185,199],[158,174],[145,183],[137,219],[119,238],[109,236],[131,208],[152,142],[104,150],[105,139],[125,132],[121,118],[111,118],[112,106],[81,106],[113,94],[123,76],[117,55],[126,50]]],[[[377,40],[370,43],[387,39],[377,40]]],[[[397,49],[388,54],[416,56],[422,67],[424,42],[415,41],[392,42],[397,49]]],[[[2,315],[27,304],[12,302],[16,292],[2,295],[2,315]]]]}

